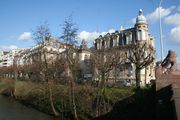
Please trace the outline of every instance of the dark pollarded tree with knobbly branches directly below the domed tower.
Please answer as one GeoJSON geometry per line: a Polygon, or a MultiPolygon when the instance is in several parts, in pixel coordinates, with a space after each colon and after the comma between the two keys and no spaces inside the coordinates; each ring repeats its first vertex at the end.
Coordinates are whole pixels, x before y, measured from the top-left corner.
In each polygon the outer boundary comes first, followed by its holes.
{"type": "Polygon", "coordinates": [[[140,88],[141,70],[154,61],[154,48],[146,42],[137,42],[130,45],[127,58],[135,65],[136,87],[140,88]]]}

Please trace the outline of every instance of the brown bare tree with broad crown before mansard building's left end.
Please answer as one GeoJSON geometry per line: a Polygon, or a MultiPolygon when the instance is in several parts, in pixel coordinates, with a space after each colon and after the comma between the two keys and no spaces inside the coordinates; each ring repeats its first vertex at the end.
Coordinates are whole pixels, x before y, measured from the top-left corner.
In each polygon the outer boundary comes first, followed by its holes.
{"type": "Polygon", "coordinates": [[[96,116],[99,116],[109,110],[108,100],[105,97],[107,82],[110,80],[110,77],[114,77],[112,71],[122,64],[124,57],[115,48],[94,49],[92,51],[91,59],[93,61],[95,81],[100,89],[96,99],[96,116]]]}

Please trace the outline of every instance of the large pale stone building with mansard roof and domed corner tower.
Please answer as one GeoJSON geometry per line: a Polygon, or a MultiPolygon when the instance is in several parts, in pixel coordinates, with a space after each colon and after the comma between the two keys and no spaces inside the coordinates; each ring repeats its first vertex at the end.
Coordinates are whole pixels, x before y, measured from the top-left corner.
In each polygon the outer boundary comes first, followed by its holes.
{"type": "MultiPolygon", "coordinates": [[[[148,28],[148,22],[143,15],[143,11],[140,9],[134,27],[128,29],[121,28],[114,33],[107,33],[104,36],[100,35],[94,40],[94,46],[97,51],[111,51],[112,49],[115,49],[118,54],[121,54],[121,59],[124,57],[123,64],[110,72],[111,80],[114,79],[114,76],[117,77],[117,80],[133,81],[135,79],[135,65],[130,63],[124,55],[125,53],[129,55],[129,49],[132,44],[145,42],[146,44],[151,45],[155,51],[155,38],[149,34],[148,28]]],[[[155,79],[154,66],[155,61],[145,69],[141,70],[141,85],[148,84],[151,79],[155,79]]]]}

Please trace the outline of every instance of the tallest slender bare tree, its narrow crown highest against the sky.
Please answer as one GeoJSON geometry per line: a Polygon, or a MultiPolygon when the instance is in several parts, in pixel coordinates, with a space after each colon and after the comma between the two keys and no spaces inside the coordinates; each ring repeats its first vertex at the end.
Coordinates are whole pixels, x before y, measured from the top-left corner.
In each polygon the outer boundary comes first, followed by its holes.
{"type": "Polygon", "coordinates": [[[77,31],[78,28],[76,24],[72,21],[72,16],[69,16],[65,19],[64,24],[62,25],[63,33],[60,39],[63,39],[66,43],[66,59],[68,66],[68,76],[70,83],[70,101],[72,102],[72,109],[75,120],[78,120],[76,102],[75,102],[75,81],[77,81],[77,70],[78,70],[78,57],[77,52],[78,48],[77,43],[77,31]]]}

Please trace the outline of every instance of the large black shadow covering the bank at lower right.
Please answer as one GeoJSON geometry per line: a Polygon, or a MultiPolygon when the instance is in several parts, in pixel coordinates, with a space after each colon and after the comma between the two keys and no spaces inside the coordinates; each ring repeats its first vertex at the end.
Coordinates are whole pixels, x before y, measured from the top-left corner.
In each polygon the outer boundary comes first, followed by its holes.
{"type": "Polygon", "coordinates": [[[133,96],[117,102],[113,109],[94,120],[176,120],[171,86],[136,90],[133,96]]]}

